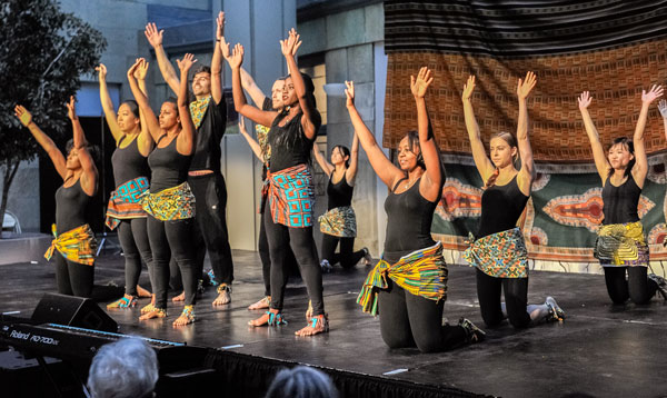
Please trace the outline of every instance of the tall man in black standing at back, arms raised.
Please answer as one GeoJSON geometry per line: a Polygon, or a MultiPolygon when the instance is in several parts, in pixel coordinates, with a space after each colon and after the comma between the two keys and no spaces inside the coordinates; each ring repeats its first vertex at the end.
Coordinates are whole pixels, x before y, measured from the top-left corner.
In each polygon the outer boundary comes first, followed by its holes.
{"type": "MultiPolygon", "coordinates": [[[[215,275],[213,283],[218,286],[218,297],[212,305],[221,306],[231,301],[233,262],[227,231],[227,187],[220,172],[220,141],[227,122],[219,46],[225,32],[225,12],[220,12],[216,21],[217,41],[211,66],[197,68],[192,78],[192,93],[197,100],[190,103],[190,113],[197,128],[197,145],[188,171],[188,183],[197,199],[197,226],[193,233],[197,253],[200,253],[197,263],[198,279],[201,279],[203,270],[203,255],[208,252],[215,275]]],[[[163,30],[158,31],[155,23],[146,26],[146,37],[156,51],[162,77],[171,90],[178,92],[179,78],[162,48],[162,33],[163,30]]]]}

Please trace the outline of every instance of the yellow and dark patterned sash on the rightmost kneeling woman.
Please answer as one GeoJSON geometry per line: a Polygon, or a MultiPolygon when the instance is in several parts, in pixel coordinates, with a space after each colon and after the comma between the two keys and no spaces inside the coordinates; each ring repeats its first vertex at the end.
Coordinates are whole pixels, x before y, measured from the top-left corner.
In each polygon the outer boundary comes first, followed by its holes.
{"type": "Polygon", "coordinates": [[[641,222],[601,226],[593,255],[604,267],[648,266],[648,245],[641,222]]]}

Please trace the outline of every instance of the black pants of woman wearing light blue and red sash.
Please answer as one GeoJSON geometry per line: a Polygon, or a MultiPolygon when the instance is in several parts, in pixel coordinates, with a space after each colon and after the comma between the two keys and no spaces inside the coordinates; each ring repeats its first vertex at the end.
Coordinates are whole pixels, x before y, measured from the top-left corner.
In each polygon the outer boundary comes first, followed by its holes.
{"type": "MultiPolygon", "coordinates": [[[[149,216],[150,217],[150,216],[149,216]]],[[[141,260],[148,267],[148,277],[152,285],[152,253],[150,242],[148,241],[148,231],[146,218],[135,218],[131,220],[121,220],[118,225],[118,240],[122,248],[122,255],[126,260],[126,295],[137,296],[137,283],[141,275],[141,260]]]]}

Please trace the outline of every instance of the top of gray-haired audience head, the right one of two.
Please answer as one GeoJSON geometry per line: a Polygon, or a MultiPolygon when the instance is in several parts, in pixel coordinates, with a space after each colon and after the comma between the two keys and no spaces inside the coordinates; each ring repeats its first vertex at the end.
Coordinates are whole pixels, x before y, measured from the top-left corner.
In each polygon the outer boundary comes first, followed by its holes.
{"type": "Polygon", "coordinates": [[[278,372],[266,398],[337,398],[338,391],[329,376],[323,372],[298,366],[278,372]]]}

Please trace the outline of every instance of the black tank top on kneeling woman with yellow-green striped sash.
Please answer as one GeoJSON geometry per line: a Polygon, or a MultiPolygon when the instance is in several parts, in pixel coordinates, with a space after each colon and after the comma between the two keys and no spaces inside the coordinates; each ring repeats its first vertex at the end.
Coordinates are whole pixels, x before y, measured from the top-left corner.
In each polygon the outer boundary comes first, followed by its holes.
{"type": "Polygon", "coordinates": [[[407,191],[394,193],[398,185],[405,180],[407,179],[398,181],[385,200],[387,212],[385,251],[387,252],[415,251],[436,243],[431,238],[430,229],[439,198],[430,202],[419,193],[421,177],[407,191]]]}

